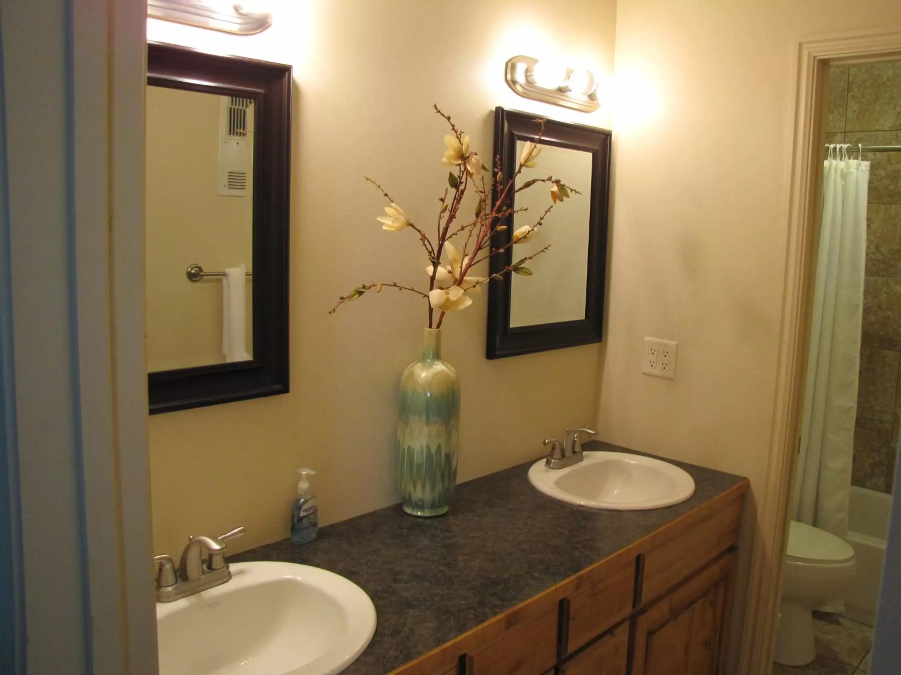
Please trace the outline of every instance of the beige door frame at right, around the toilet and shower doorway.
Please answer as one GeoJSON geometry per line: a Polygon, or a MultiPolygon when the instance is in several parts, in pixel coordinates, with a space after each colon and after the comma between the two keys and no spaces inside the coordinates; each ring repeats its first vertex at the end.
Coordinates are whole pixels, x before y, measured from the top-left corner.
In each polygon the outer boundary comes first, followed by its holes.
{"type": "Polygon", "coordinates": [[[854,31],[802,40],[797,47],[794,133],[788,211],[786,270],[779,331],[778,371],[767,477],[758,497],[748,608],[740,656],[742,675],[769,675],[782,594],[788,508],[797,460],[810,341],[817,216],[822,173],[821,131],[826,78],[833,62],[901,55],[901,30],[854,31]]]}

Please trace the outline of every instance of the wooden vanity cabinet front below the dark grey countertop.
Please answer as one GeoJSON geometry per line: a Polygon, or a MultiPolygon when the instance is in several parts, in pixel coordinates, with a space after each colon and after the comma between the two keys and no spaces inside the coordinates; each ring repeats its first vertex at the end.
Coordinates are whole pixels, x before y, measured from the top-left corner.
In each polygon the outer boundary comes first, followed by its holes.
{"type": "Polygon", "coordinates": [[[721,675],[747,482],[392,675],[721,675]]]}

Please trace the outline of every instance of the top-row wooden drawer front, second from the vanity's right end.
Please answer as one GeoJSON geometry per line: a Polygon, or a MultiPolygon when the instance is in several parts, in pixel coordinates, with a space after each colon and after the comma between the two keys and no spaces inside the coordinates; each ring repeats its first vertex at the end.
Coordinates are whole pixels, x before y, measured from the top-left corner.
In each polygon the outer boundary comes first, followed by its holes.
{"type": "Polygon", "coordinates": [[[628,564],[598,578],[588,572],[569,596],[569,638],[566,653],[616,626],[632,611],[635,567],[628,564]]]}

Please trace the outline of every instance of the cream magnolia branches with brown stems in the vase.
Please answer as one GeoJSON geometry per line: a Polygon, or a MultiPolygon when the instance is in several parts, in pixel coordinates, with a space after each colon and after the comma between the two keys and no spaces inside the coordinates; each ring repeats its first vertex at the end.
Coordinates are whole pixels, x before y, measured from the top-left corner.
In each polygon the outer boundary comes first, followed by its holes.
{"type": "Polygon", "coordinates": [[[382,223],[382,229],[396,232],[400,229],[411,228],[418,235],[420,243],[425,249],[429,260],[429,266],[425,272],[429,277],[428,292],[420,291],[413,286],[405,286],[396,283],[390,284],[363,284],[355,288],[347,296],[341,296],[339,302],[332,308],[333,314],[342,304],[357,300],[364,293],[376,289],[380,293],[382,288],[391,287],[398,291],[415,293],[429,301],[429,328],[441,328],[441,323],[449,311],[460,311],[472,304],[472,298],[467,293],[480,293],[481,286],[488,281],[501,279],[507,274],[531,276],[532,270],[524,266],[526,262],[546,253],[551,245],[543,247],[531,256],[523,257],[516,262],[505,266],[504,269],[488,277],[469,275],[473,266],[486,261],[498,253],[514,247],[514,245],[530,241],[538,235],[538,229],[556,204],[564,199],[569,199],[573,194],[580,194],[578,190],[568,184],[564,184],[559,178],[549,175],[546,178],[532,178],[519,187],[516,180],[523,169],[537,166],[537,159],[542,152],[541,140],[544,133],[544,120],[537,119],[540,130],[532,141],[526,141],[523,152],[519,158],[513,175],[507,180],[503,179],[500,157],[495,157],[494,169],[488,169],[482,164],[478,153],[469,148],[469,136],[463,133],[457,125],[451,121],[451,116],[442,112],[437,105],[432,106],[444,121],[447,121],[451,133],[444,137],[445,151],[441,157],[443,164],[449,165],[451,171],[448,174],[448,186],[439,197],[438,218],[436,222],[437,239],[433,242],[422,229],[416,227],[404,210],[397,205],[391,195],[387,193],[381,184],[366,177],[369,183],[375,185],[388,202],[385,207],[386,215],[378,217],[382,223]],[[487,179],[486,179],[487,176],[487,179]],[[528,211],[526,208],[514,208],[509,202],[515,193],[523,192],[536,184],[551,185],[551,205],[542,212],[542,215],[532,224],[523,225],[516,229],[509,243],[503,247],[491,248],[491,241],[498,232],[507,229],[506,220],[511,220],[514,215],[528,211]],[[469,186],[472,186],[477,195],[475,214],[472,220],[462,225],[456,225],[463,197],[469,186]],[[489,207],[489,198],[495,195],[494,205],[489,207]],[[462,249],[458,249],[451,243],[451,239],[466,233],[466,240],[462,249]],[[472,248],[470,249],[470,244],[472,248]],[[487,250],[487,252],[485,252],[487,250]],[[479,256],[479,254],[484,255],[479,256]],[[442,262],[445,260],[446,262],[442,262]],[[435,311],[438,318],[435,319],[435,311]]]}

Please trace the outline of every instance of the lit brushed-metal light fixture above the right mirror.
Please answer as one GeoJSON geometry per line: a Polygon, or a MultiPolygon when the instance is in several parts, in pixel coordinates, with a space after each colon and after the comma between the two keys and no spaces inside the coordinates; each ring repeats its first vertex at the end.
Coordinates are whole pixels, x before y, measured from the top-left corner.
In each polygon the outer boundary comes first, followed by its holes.
{"type": "Polygon", "coordinates": [[[580,112],[594,112],[601,105],[597,100],[594,73],[585,68],[569,68],[547,59],[516,56],[506,62],[505,79],[516,94],[535,101],[580,112]]]}

